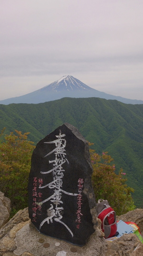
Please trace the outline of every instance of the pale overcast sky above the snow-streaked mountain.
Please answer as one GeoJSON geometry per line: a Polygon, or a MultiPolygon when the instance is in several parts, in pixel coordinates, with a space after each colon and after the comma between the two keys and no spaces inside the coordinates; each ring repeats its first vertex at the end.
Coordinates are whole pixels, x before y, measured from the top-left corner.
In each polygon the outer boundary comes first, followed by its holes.
{"type": "Polygon", "coordinates": [[[63,75],[143,100],[143,0],[0,0],[0,100],[63,75]]]}

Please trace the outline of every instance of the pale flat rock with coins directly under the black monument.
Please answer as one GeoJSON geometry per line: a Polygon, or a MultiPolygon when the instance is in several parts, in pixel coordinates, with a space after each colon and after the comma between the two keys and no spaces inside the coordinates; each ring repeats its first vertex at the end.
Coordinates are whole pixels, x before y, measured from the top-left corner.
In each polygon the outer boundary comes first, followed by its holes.
{"type": "Polygon", "coordinates": [[[13,253],[18,256],[26,252],[34,256],[105,256],[106,252],[104,233],[98,228],[89,237],[87,244],[79,247],[43,235],[33,224],[28,223],[17,232],[15,243],[17,249],[13,253]]]}

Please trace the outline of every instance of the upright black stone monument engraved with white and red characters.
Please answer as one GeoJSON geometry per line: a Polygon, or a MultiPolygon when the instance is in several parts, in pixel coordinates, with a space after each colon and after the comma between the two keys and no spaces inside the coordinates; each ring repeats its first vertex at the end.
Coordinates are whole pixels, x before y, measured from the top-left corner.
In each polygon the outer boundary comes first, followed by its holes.
{"type": "Polygon", "coordinates": [[[96,204],[88,143],[65,123],[38,142],[29,173],[29,217],[43,234],[85,245],[96,204]]]}

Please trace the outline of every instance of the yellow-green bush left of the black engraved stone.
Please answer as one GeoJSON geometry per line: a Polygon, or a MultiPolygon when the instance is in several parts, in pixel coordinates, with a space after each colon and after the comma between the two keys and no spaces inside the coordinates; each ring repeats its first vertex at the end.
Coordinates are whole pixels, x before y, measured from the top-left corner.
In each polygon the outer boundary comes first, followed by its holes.
{"type": "Polygon", "coordinates": [[[15,130],[0,143],[0,190],[11,200],[11,207],[27,207],[28,179],[34,142],[28,134],[15,130]]]}

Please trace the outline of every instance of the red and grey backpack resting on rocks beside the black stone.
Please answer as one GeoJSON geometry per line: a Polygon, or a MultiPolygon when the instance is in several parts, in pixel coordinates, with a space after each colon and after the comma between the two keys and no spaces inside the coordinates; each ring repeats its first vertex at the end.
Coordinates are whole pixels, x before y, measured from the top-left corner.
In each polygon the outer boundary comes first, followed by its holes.
{"type": "Polygon", "coordinates": [[[107,200],[98,200],[97,213],[97,217],[102,222],[101,229],[105,234],[105,238],[114,236],[117,231],[116,214],[114,210],[110,207],[107,200]]]}

